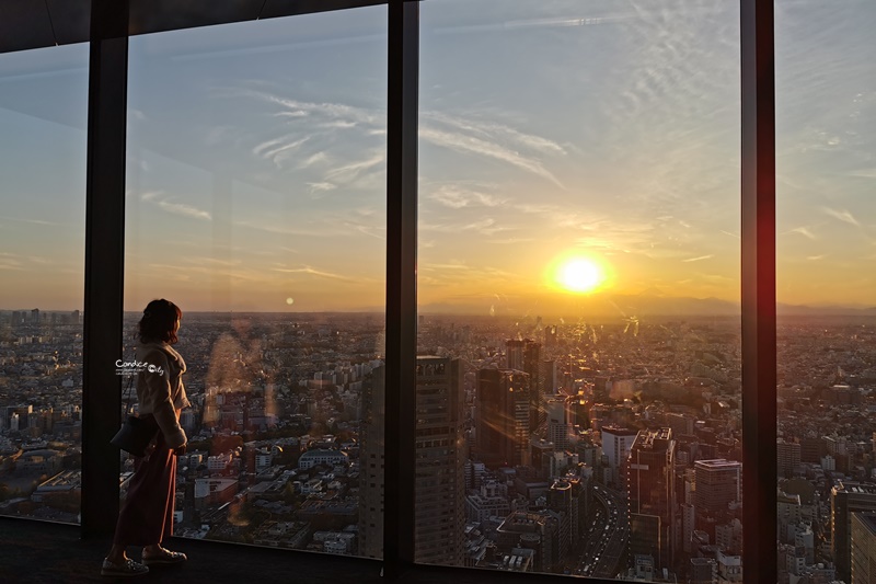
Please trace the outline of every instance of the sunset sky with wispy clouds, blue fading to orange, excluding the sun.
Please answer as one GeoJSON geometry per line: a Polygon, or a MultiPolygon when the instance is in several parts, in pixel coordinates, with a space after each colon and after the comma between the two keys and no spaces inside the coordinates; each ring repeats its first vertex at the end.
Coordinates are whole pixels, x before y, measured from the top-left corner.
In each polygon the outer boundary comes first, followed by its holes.
{"type": "MultiPolygon", "coordinates": [[[[738,300],[738,20],[424,2],[420,304],[541,310],[568,254],[604,294],[738,300]]],[[[782,301],[874,304],[873,30],[864,0],[776,3],[782,301]]],[[[382,7],[132,38],[128,308],[379,309],[385,50],[382,7]]],[[[81,306],[87,59],[0,56],[0,307],[81,306]]]]}

